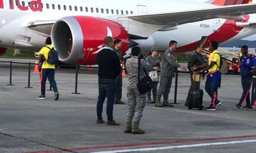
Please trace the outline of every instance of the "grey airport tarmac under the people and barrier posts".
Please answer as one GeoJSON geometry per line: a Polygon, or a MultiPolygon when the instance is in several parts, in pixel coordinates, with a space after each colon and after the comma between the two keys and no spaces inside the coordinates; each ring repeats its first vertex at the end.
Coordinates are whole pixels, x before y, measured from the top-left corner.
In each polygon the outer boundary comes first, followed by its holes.
{"type": "MultiPolygon", "coordinates": [[[[4,61],[8,61],[5,59],[4,61]]],[[[0,59],[0,61],[3,61],[0,59]]],[[[26,60],[22,60],[27,62],[26,60]]],[[[19,61],[20,62],[20,61],[19,61]]],[[[40,96],[39,73],[32,73],[28,86],[28,65],[0,62],[0,153],[53,152],[256,152],[256,112],[238,109],[241,97],[239,75],[222,75],[216,111],[188,110],[184,106],[190,79],[179,73],[177,102],[173,108],[147,104],[140,128],[145,135],[125,134],[127,105],[114,105],[114,119],[120,126],[96,124],[98,96],[97,69],[56,69],[60,99],[53,91],[40,96]]],[[[123,98],[127,103],[128,77],[123,78],[123,98]]],[[[201,89],[204,89],[205,80],[201,89]]],[[[47,82],[49,89],[49,82],[47,82]]],[[[204,106],[210,98],[204,91],[204,106]]],[[[169,96],[173,102],[174,80],[169,96]]],[[[106,121],[106,104],[104,120],[106,121]]]]}

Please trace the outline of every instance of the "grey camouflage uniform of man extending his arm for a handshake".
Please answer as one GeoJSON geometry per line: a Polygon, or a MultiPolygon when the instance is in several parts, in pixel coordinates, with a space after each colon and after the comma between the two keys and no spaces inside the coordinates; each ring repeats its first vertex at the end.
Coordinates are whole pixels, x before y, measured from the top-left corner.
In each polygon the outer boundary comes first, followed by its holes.
{"type": "Polygon", "coordinates": [[[160,86],[157,91],[157,98],[168,98],[170,89],[172,87],[172,77],[173,69],[180,68],[180,64],[176,63],[173,58],[173,52],[171,50],[166,50],[163,54],[162,68],[161,68],[161,79],[160,86]]]}

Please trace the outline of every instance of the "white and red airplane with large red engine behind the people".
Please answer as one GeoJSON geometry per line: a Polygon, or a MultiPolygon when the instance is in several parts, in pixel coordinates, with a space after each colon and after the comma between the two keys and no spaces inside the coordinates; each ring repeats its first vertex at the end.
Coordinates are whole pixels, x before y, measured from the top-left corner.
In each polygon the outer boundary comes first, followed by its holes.
{"type": "Polygon", "coordinates": [[[251,2],[0,0],[0,52],[39,50],[47,36],[60,61],[68,64],[95,64],[106,36],[123,41],[124,55],[136,45],[166,50],[170,40],[178,41],[177,52],[188,52],[198,42],[207,47],[212,40],[223,43],[254,34],[256,19],[247,15],[256,13],[251,2]]]}

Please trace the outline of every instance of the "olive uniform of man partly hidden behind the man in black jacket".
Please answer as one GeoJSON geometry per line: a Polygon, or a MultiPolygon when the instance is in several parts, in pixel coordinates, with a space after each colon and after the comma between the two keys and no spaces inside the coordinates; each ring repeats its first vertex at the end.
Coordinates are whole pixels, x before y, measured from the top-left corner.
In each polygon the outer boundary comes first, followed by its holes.
{"type": "MultiPolygon", "coordinates": [[[[124,61],[124,57],[120,50],[116,50],[116,48],[114,48],[113,52],[116,52],[120,61],[124,61]]],[[[116,100],[115,101],[120,101],[122,99],[122,82],[123,82],[122,73],[120,73],[120,75],[118,75],[118,77],[116,78],[116,81],[117,81],[117,90],[116,90],[116,100]]]]}

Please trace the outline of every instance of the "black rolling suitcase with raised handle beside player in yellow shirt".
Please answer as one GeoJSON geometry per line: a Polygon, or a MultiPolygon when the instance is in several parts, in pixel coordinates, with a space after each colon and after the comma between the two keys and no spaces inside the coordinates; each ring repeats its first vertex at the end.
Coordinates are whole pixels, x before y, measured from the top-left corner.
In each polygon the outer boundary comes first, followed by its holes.
{"type": "MultiPolygon", "coordinates": [[[[194,82],[196,80],[200,81],[200,79],[201,79],[201,75],[196,75],[196,73],[193,72],[193,81],[194,82]]],[[[199,110],[202,110],[204,108],[204,106],[202,105],[204,91],[202,91],[201,89],[195,89],[194,87],[194,89],[189,90],[188,94],[189,94],[188,109],[191,110],[192,108],[198,108],[199,110]]]]}

